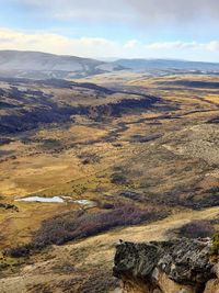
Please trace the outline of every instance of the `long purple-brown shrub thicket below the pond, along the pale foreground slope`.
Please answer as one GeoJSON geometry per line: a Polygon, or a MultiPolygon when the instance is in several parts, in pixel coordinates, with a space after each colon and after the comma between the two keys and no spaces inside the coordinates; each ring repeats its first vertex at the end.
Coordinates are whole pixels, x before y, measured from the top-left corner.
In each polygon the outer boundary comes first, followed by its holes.
{"type": "Polygon", "coordinates": [[[11,257],[24,257],[49,245],[64,245],[111,228],[150,223],[165,216],[168,213],[164,211],[152,207],[141,210],[136,205],[122,203],[102,212],[73,211],[44,221],[31,244],[8,249],[5,253],[11,257]]]}

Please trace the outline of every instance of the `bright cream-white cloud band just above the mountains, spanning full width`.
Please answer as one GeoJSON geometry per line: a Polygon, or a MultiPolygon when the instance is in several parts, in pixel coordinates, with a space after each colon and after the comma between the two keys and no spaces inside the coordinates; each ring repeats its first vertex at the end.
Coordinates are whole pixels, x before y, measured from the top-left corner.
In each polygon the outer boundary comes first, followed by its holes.
{"type": "Polygon", "coordinates": [[[219,41],[159,42],[143,44],[138,40],[116,42],[100,37],[66,37],[53,33],[26,33],[0,29],[0,49],[39,50],[60,55],[82,57],[124,58],[187,58],[217,60],[219,41]]]}

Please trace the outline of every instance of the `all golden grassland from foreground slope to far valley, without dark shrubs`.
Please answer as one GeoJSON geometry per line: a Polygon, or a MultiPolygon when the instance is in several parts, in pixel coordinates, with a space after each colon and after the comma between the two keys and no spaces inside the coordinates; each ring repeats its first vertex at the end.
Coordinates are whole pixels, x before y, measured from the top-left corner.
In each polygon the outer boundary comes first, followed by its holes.
{"type": "MultiPolygon", "coordinates": [[[[89,81],[103,84],[105,78],[107,75],[92,77],[89,81]]],[[[207,190],[219,185],[219,129],[217,124],[207,123],[219,116],[218,92],[206,88],[178,89],[176,86],[171,86],[173,89],[170,90],[169,86],[160,84],[175,79],[219,81],[218,77],[193,75],[146,78],[139,74],[122,75],[120,79],[112,75],[108,83],[124,83],[135,87],[135,90],[143,88],[146,93],[163,98],[160,108],[137,113],[129,111],[101,123],[76,115],[72,122],[42,126],[14,136],[14,142],[0,146],[3,154],[0,203],[14,204],[19,209],[19,212],[0,209],[1,249],[28,243],[43,221],[82,207],[76,203],[14,201],[20,196],[67,195],[96,203],[125,201],[132,204],[132,200],[118,195],[127,190],[143,194],[146,201],[135,203],[140,207],[164,206],[172,213],[168,218],[149,225],[117,228],[81,241],[51,247],[28,260],[7,258],[2,261],[7,270],[2,272],[4,279],[0,280],[1,292],[44,292],[43,289],[65,292],[68,282],[72,291],[66,292],[88,292],[81,286],[87,288],[89,280],[93,284],[91,278],[96,275],[96,280],[103,279],[103,282],[107,278],[112,280],[114,247],[119,238],[135,241],[164,239],[169,229],[189,219],[218,216],[218,207],[193,211],[189,206],[172,206],[170,203],[175,199],[187,201],[191,195],[201,200],[207,190]],[[168,109],[164,108],[166,104],[168,109]],[[139,140],[139,137],[153,135],[158,137],[139,140]],[[90,156],[90,161],[84,162],[83,159],[90,156]],[[113,182],[115,173],[123,174],[125,183],[113,182]],[[61,271],[65,266],[74,270],[61,271]],[[104,275],[100,274],[99,268],[105,271],[104,275]],[[26,286],[28,291],[25,291],[26,286]]],[[[78,103],[77,99],[84,104],[93,100],[93,97],[85,99],[84,92],[72,97],[67,90],[44,90],[54,92],[61,101],[72,101],[73,105],[78,103]]],[[[106,97],[104,102],[124,97],[106,97]]],[[[103,100],[95,101],[101,102],[103,100]]],[[[101,206],[97,204],[94,209],[99,211],[101,206]]]]}

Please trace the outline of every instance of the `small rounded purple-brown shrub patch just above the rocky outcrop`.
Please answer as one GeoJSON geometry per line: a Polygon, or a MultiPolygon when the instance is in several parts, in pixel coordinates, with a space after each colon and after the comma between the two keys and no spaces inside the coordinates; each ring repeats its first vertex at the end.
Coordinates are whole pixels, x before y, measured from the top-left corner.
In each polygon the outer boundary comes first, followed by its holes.
{"type": "Polygon", "coordinates": [[[180,235],[187,238],[205,238],[212,236],[215,229],[210,222],[196,219],[185,224],[180,229],[180,235]]]}

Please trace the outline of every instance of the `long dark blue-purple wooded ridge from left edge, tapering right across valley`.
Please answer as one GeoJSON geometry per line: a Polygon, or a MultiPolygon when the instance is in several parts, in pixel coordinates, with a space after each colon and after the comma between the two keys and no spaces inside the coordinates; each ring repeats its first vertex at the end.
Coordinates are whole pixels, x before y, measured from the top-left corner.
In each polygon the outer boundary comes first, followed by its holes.
{"type": "MultiPolygon", "coordinates": [[[[56,83],[60,81],[55,80],[53,82],[56,83]]],[[[73,84],[71,84],[71,87],[73,90],[73,84]]],[[[77,84],[77,87],[79,87],[79,84],[77,84]]],[[[80,84],[80,87],[83,88],[83,84],[80,84]]],[[[88,88],[88,84],[85,84],[85,87],[88,88]]],[[[89,87],[97,91],[99,94],[102,94],[102,98],[108,94],[104,88],[102,89],[99,86],[93,84],[91,87],[90,84],[89,87]]],[[[92,104],[78,104],[73,106],[67,103],[59,103],[51,94],[46,94],[43,91],[30,89],[20,90],[14,86],[11,87],[5,94],[5,97],[11,100],[11,104],[16,102],[18,105],[13,106],[13,111],[9,112],[7,115],[0,116],[1,134],[14,134],[30,131],[39,127],[42,124],[67,123],[72,120],[72,115],[85,115],[95,122],[103,122],[107,119],[120,116],[124,113],[150,109],[154,103],[161,101],[160,98],[152,95],[139,95],[138,99],[129,95],[127,99],[107,104],[99,104],[95,106],[92,104]]],[[[89,93],[84,94],[89,95],[89,93]]]]}

